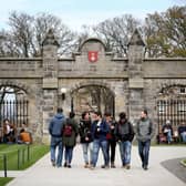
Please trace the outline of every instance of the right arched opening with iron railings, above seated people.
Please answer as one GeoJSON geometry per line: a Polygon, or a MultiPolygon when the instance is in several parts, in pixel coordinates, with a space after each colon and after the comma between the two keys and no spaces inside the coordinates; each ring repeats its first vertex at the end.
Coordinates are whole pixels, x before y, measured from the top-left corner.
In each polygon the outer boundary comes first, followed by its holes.
{"type": "Polygon", "coordinates": [[[172,85],[161,90],[156,97],[158,134],[166,121],[170,122],[173,136],[178,135],[178,127],[186,121],[186,86],[172,85]]]}

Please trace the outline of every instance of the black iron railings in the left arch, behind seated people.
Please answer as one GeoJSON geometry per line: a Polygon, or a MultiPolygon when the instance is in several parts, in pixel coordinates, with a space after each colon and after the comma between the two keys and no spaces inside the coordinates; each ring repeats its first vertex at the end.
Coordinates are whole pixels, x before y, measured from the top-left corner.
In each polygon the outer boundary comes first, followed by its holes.
{"type": "Polygon", "coordinates": [[[9,118],[16,127],[20,127],[24,122],[29,124],[29,101],[16,100],[3,101],[0,103],[0,127],[3,126],[3,120],[9,118]]]}

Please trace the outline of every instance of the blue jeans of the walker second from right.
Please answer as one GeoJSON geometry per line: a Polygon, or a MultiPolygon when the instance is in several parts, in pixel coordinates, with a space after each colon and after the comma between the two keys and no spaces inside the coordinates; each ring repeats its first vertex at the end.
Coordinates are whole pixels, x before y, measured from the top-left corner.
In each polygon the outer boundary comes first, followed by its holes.
{"type": "Polygon", "coordinates": [[[123,166],[131,164],[131,148],[132,143],[130,141],[120,142],[120,153],[123,166]]]}

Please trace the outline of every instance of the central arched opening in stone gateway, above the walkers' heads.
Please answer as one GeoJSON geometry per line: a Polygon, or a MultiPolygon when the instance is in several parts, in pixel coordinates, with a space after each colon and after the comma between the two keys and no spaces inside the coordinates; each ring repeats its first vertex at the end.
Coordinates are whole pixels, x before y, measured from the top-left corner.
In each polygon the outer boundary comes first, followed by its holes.
{"type": "Polygon", "coordinates": [[[71,111],[74,111],[79,116],[84,111],[111,112],[115,116],[114,97],[114,93],[106,86],[83,85],[71,93],[71,111]]]}

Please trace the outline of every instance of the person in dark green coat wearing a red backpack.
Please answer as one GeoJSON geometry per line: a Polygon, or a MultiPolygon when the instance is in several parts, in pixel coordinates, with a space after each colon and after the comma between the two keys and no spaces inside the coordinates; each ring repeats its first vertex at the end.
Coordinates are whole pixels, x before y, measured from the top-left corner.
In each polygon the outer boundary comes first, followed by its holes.
{"type": "Polygon", "coordinates": [[[76,136],[79,134],[78,122],[75,121],[75,113],[70,112],[69,117],[64,122],[63,126],[63,145],[65,148],[64,154],[64,167],[71,168],[71,163],[73,158],[73,149],[76,144],[76,136]]]}

